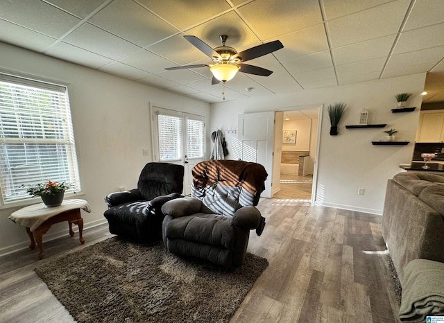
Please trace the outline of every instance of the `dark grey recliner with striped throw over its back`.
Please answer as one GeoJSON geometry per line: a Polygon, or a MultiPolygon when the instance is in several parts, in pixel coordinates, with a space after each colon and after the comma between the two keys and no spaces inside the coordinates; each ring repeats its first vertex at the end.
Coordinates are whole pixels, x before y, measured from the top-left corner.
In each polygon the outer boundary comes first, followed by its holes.
{"type": "Polygon", "coordinates": [[[192,169],[191,197],[162,206],[162,238],[169,252],[225,267],[239,267],[251,229],[265,219],[255,208],[267,173],[260,164],[210,160],[192,169]]]}

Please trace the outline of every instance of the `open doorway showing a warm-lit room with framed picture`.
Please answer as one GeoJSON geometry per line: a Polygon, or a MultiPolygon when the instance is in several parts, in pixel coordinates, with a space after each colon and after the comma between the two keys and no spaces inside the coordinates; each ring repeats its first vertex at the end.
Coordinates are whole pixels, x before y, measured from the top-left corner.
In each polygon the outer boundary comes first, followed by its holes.
{"type": "Polygon", "coordinates": [[[311,200],[319,107],[276,112],[273,198],[311,200]]]}

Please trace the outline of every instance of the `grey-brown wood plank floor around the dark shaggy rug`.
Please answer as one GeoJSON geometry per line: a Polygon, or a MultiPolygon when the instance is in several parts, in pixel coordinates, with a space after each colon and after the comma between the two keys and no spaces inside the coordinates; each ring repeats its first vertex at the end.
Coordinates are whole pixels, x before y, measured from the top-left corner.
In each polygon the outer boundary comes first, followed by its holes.
{"type": "MultiPolygon", "coordinates": [[[[388,274],[380,217],[310,206],[291,199],[261,199],[262,236],[252,231],[248,252],[268,268],[231,323],[400,322],[388,274]]],[[[85,229],[36,250],[0,257],[0,322],[74,322],[33,271],[35,265],[108,238],[108,227],[85,229]]]]}

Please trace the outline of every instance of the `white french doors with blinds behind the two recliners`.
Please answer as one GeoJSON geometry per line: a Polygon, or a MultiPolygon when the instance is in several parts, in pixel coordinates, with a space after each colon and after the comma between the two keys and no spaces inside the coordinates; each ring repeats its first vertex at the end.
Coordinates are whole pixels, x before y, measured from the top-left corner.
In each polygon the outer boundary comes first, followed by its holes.
{"type": "Polygon", "coordinates": [[[151,106],[153,160],[185,167],[184,195],[191,193],[191,168],[205,159],[205,118],[151,106]]]}

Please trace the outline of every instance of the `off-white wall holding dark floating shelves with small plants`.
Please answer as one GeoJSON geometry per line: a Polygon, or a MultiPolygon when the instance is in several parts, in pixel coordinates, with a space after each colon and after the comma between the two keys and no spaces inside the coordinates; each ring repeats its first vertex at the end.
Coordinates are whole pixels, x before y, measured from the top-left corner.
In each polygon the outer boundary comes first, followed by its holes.
{"type": "Polygon", "coordinates": [[[381,214],[386,182],[399,173],[399,164],[411,161],[424,89],[425,73],[361,82],[353,85],[325,87],[227,101],[212,105],[211,121],[218,126],[236,124],[232,116],[248,112],[298,110],[332,103],[347,103],[349,110],[339,124],[339,135],[330,136],[330,123],[323,109],[321,118],[320,154],[318,159],[316,203],[325,206],[381,214]],[[414,112],[393,114],[395,94],[413,94],[407,103],[417,107],[414,112]],[[295,103],[298,103],[296,105],[295,103]],[[370,123],[386,123],[386,128],[347,130],[345,125],[357,124],[359,112],[366,107],[370,123]],[[396,128],[407,146],[373,146],[371,141],[384,137],[383,130],[396,128]],[[358,188],[364,195],[357,195],[358,188]]]}

